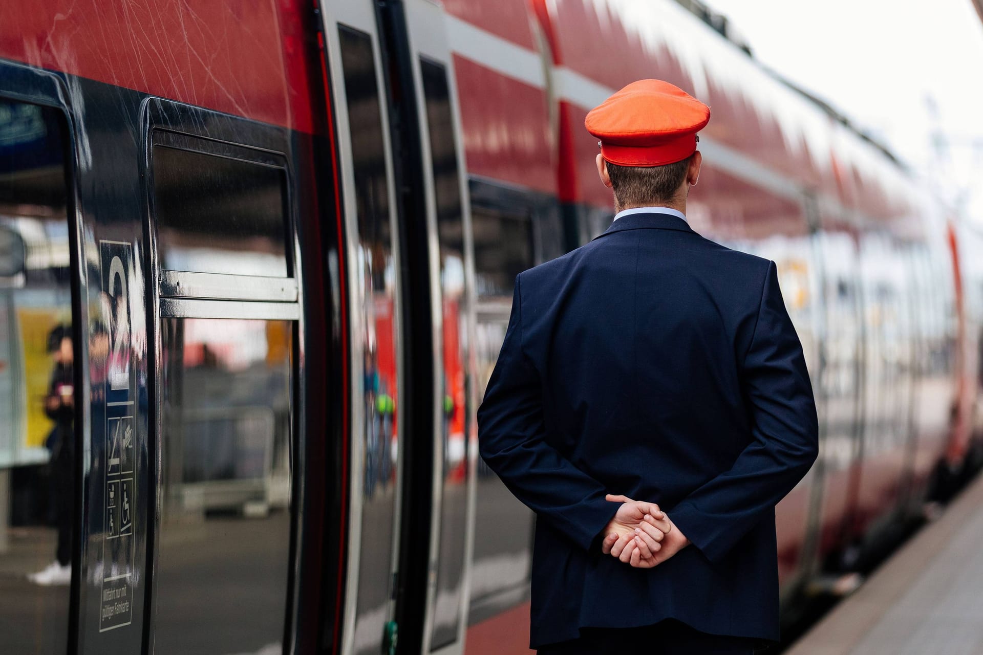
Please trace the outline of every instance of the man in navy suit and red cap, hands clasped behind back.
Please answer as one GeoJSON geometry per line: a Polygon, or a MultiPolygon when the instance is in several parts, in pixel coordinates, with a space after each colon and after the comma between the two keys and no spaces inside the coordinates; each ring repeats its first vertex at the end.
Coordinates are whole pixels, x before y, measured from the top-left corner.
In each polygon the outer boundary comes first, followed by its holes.
{"type": "Polygon", "coordinates": [[[515,280],[479,443],[536,513],[540,653],[779,638],[775,506],[816,459],[816,408],[775,263],[686,221],[709,120],[656,80],[595,108],[614,221],[515,280]]]}

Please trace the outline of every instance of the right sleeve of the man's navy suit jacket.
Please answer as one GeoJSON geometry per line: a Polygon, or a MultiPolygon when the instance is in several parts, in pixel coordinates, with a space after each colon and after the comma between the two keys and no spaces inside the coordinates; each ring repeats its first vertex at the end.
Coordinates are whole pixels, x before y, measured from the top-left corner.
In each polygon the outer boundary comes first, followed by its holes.
{"type": "Polygon", "coordinates": [[[751,343],[741,368],[752,440],[729,470],[667,514],[712,562],[766,517],[808,472],[819,427],[802,346],[769,262],[751,343]]]}

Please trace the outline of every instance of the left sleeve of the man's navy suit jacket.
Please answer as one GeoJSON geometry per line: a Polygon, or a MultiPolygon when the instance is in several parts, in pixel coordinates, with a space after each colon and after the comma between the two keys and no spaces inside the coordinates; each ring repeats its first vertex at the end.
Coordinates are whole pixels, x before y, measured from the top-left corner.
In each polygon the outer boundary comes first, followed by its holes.
{"type": "Polygon", "coordinates": [[[478,409],[479,450],[538,520],[590,550],[619,504],[544,438],[542,380],[523,350],[520,284],[517,277],[505,341],[478,409]]]}

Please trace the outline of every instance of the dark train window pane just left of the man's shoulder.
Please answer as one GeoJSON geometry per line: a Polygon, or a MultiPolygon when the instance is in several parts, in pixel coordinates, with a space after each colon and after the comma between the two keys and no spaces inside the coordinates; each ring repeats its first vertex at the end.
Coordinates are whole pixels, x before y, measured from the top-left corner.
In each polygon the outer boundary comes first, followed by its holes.
{"type": "Polygon", "coordinates": [[[471,208],[479,297],[512,298],[515,276],[533,265],[533,222],[528,214],[471,208]]]}

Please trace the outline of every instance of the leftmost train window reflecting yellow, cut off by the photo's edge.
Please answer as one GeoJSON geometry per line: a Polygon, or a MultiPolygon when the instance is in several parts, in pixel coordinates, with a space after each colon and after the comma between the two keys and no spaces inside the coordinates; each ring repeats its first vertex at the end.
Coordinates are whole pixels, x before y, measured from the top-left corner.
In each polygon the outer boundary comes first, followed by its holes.
{"type": "Polygon", "coordinates": [[[64,653],[76,502],[65,132],[0,99],[0,652],[64,653]]]}

